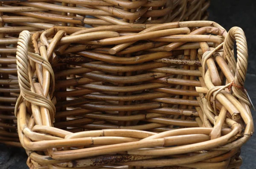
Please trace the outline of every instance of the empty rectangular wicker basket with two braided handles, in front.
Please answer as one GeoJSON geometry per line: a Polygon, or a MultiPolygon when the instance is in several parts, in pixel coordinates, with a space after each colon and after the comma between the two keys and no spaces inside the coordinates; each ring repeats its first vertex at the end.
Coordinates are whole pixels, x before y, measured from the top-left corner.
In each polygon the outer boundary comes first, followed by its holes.
{"type": "Polygon", "coordinates": [[[240,147],[254,129],[239,27],[23,31],[16,57],[15,115],[31,169],[241,166],[240,147]]]}

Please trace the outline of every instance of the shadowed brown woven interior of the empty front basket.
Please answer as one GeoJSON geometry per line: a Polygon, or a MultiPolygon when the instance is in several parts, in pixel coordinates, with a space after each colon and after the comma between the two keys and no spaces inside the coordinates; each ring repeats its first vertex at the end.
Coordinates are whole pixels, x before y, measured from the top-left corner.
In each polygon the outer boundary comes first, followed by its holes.
{"type": "MultiPolygon", "coordinates": [[[[57,101],[54,126],[71,132],[119,128],[163,132],[199,127],[195,121],[202,105],[195,90],[196,86],[201,86],[197,50],[177,50],[173,54],[157,51],[158,46],[164,44],[142,40],[131,48],[147,46],[147,49],[133,53],[125,49],[115,55],[108,54],[115,45],[101,48],[81,45],[95,49],[59,55],[53,67],[57,101]],[[86,57],[88,55],[93,59],[86,57]],[[135,59],[157,55],[170,56],[168,59],[174,61],[192,59],[193,65],[166,64],[161,60],[137,62],[135,59]],[[70,59],[78,60],[72,63],[70,59]],[[116,59],[121,62],[116,63],[116,59]],[[62,61],[65,63],[61,64],[62,61]]],[[[199,43],[190,44],[199,47],[199,43]]],[[[70,44],[66,50],[72,48],[77,48],[76,44],[70,44]]]]}

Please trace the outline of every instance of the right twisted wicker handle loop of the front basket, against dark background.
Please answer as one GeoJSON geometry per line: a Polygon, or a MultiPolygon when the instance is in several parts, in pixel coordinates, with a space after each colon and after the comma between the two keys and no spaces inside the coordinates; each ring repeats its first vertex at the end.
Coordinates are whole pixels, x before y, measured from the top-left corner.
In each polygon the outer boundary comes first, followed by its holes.
{"type": "Polygon", "coordinates": [[[235,72],[234,81],[232,82],[233,93],[237,98],[250,105],[250,101],[248,101],[247,94],[244,91],[244,81],[248,65],[248,50],[244,31],[239,27],[231,28],[224,40],[223,48],[225,57],[230,63],[233,72],[235,72]],[[237,46],[237,62],[233,53],[234,42],[236,42],[237,46]]]}

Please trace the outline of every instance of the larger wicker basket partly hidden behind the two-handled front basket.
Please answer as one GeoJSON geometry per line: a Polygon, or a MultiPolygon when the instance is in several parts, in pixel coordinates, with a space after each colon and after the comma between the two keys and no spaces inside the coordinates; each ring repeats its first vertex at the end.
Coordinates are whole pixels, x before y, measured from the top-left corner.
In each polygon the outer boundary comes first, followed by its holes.
{"type": "Polygon", "coordinates": [[[99,25],[205,20],[209,6],[209,0],[25,1],[0,2],[0,142],[14,146],[20,146],[13,112],[20,92],[15,52],[21,31],[35,33],[60,25],[70,34],[99,25]]]}

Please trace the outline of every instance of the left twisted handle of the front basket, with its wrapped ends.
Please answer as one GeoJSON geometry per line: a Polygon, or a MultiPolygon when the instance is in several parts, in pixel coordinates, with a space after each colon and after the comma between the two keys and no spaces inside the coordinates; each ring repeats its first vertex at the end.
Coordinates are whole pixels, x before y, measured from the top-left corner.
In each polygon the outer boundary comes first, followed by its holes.
{"type": "MultiPolygon", "coordinates": [[[[52,104],[51,101],[49,101],[46,97],[41,96],[40,94],[36,93],[32,84],[32,73],[30,68],[30,62],[29,62],[29,55],[33,55],[34,61],[37,61],[41,65],[50,65],[47,60],[44,60],[41,56],[37,54],[33,54],[32,52],[29,53],[29,42],[31,40],[31,34],[29,31],[22,31],[19,35],[19,39],[17,42],[17,51],[16,51],[16,58],[17,58],[17,75],[18,75],[18,82],[20,87],[20,96],[17,99],[16,105],[15,105],[15,115],[17,116],[17,110],[23,101],[25,99],[26,101],[45,107],[49,110],[51,114],[55,113],[55,106],[52,104]]],[[[50,66],[48,66],[50,67],[50,66]]],[[[53,115],[52,115],[53,118],[53,115]]]]}

